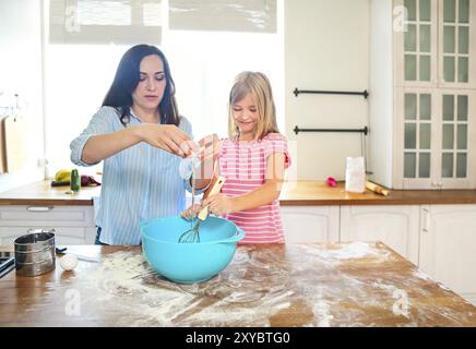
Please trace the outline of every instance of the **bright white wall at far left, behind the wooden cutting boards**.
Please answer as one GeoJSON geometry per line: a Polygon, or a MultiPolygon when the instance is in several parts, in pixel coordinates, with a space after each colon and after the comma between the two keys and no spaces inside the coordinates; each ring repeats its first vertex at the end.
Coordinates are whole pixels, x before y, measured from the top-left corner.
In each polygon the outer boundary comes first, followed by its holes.
{"type": "MultiPolygon", "coordinates": [[[[19,94],[26,127],[26,159],[22,170],[0,174],[0,192],[41,180],[43,158],[41,25],[38,0],[0,1],[1,100],[19,94]]],[[[0,113],[4,109],[0,109],[0,113]]]]}

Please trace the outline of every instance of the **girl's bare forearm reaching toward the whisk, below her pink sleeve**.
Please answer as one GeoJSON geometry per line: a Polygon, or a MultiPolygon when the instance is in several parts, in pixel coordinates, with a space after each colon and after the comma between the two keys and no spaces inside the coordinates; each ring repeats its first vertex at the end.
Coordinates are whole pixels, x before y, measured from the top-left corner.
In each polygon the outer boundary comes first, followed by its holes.
{"type": "Polygon", "coordinates": [[[283,181],[267,180],[260,188],[240,196],[235,196],[233,201],[233,210],[247,210],[267,205],[279,197],[283,181]]]}

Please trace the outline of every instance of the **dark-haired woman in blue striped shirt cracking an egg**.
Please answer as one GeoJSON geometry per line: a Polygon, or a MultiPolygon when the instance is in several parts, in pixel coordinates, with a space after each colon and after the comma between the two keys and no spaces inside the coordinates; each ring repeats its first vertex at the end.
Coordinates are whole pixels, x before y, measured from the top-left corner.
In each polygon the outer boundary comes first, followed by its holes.
{"type": "Polygon", "coordinates": [[[178,169],[198,151],[191,137],[164,53],[148,45],[129,49],[103,107],[70,144],[79,166],[104,160],[96,243],[139,244],[141,220],[183,209],[190,181],[178,169]]]}

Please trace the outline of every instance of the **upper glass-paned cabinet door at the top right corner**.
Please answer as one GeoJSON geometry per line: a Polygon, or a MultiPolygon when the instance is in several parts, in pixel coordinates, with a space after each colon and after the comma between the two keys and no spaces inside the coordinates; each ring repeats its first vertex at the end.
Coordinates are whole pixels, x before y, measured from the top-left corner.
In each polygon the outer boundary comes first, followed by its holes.
{"type": "Polygon", "coordinates": [[[476,3],[439,0],[439,86],[476,87],[476,3]]]}

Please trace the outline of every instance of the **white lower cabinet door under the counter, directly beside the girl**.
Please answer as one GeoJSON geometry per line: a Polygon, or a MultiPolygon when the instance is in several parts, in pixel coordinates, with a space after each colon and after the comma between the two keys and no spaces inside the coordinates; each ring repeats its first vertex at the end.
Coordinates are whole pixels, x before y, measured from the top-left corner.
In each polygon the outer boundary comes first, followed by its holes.
{"type": "Polygon", "coordinates": [[[281,206],[286,242],[338,241],[338,206],[281,206]]]}

